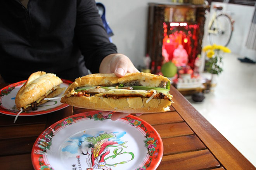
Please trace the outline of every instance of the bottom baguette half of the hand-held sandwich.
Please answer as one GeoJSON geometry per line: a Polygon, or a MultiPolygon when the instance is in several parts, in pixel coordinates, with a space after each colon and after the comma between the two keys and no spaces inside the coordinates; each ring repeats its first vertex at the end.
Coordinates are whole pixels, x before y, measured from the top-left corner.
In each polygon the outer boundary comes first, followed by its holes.
{"type": "Polygon", "coordinates": [[[71,103],[75,107],[115,111],[126,113],[153,113],[170,110],[171,101],[165,99],[151,99],[148,103],[145,97],[62,97],[62,103],[71,103]]]}

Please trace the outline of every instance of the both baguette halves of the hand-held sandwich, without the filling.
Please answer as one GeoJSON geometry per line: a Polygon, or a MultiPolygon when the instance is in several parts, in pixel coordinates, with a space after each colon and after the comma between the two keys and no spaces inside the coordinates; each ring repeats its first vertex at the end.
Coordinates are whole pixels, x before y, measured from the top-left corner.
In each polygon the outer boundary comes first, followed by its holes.
{"type": "MultiPolygon", "coordinates": [[[[77,78],[66,90],[61,102],[75,107],[116,111],[116,112],[165,112],[170,110],[171,100],[168,99],[151,99],[146,102],[149,97],[104,97],[93,95],[74,96],[76,88],[83,86],[113,86],[125,84],[128,82],[139,82],[142,86],[161,87],[170,80],[164,76],[157,76],[150,73],[127,73],[124,77],[117,77],[112,74],[92,74],[77,78]]],[[[170,95],[171,96],[171,95],[170,95]]],[[[171,96],[172,97],[172,96],[171,96]]],[[[170,98],[169,98],[170,99],[170,98]]]]}

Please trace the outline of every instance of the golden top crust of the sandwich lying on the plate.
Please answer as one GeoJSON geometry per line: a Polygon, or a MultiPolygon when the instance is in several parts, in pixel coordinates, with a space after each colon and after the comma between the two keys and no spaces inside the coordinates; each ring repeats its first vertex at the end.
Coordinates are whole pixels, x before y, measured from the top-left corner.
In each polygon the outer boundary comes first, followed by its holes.
{"type": "Polygon", "coordinates": [[[61,83],[62,80],[52,73],[37,71],[31,74],[16,95],[16,107],[19,109],[35,102],[61,83]]]}

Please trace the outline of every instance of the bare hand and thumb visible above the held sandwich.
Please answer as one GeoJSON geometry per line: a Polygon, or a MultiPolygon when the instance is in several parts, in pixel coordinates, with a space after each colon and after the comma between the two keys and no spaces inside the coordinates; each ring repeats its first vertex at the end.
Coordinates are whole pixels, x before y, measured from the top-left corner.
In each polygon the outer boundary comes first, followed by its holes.
{"type": "Polygon", "coordinates": [[[100,63],[100,73],[115,73],[118,77],[126,73],[139,72],[124,54],[109,54],[100,63]]]}

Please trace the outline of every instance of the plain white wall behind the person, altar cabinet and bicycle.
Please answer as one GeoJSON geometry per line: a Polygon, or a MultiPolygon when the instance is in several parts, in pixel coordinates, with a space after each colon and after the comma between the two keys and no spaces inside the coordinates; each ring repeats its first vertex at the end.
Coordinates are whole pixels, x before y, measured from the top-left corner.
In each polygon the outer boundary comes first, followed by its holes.
{"type": "MultiPolygon", "coordinates": [[[[143,65],[148,3],[170,3],[171,0],[96,0],[96,2],[103,3],[106,7],[106,19],[114,32],[112,41],[116,44],[118,52],[128,56],[135,66],[143,65]]],[[[226,5],[225,9],[234,13],[232,18],[235,20],[233,36],[228,47],[232,53],[256,59],[256,51],[245,47],[254,7],[226,5]]],[[[203,45],[208,44],[208,37],[204,36],[203,45]]]]}

